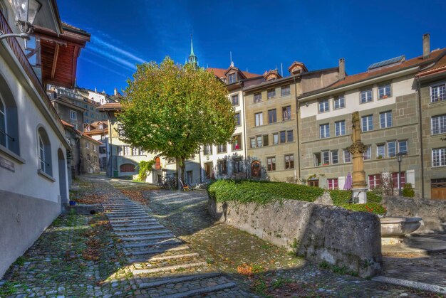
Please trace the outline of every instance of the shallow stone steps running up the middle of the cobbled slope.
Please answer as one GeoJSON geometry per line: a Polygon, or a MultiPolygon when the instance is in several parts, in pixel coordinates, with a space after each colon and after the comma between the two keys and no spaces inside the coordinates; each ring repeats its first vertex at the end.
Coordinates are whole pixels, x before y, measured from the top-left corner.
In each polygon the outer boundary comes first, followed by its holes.
{"type": "MultiPolygon", "coordinates": [[[[113,186],[110,186],[109,189],[113,186]]],[[[130,262],[130,278],[145,297],[256,297],[209,265],[197,252],[148,215],[139,205],[110,189],[103,203],[113,233],[130,262]]]]}

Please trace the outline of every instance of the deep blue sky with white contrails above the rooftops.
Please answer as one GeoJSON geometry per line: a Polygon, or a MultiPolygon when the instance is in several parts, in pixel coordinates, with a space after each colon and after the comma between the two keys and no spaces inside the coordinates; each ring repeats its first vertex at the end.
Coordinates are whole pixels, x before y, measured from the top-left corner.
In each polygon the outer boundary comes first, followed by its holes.
{"type": "Polygon", "coordinates": [[[294,60],[308,70],[346,58],[348,74],[398,55],[446,47],[446,1],[59,0],[63,21],[91,33],[78,60],[78,85],[112,94],[125,89],[135,63],[169,55],[184,63],[193,33],[201,66],[251,73],[294,60]]]}

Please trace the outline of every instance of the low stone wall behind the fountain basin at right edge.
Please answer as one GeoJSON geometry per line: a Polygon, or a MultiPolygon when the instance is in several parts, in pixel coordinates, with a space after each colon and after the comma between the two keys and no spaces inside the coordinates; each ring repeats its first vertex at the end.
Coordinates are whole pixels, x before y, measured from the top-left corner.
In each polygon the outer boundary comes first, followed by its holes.
{"type": "Polygon", "coordinates": [[[422,218],[421,227],[415,233],[446,231],[446,201],[426,198],[383,197],[386,216],[417,216],[422,218]]]}

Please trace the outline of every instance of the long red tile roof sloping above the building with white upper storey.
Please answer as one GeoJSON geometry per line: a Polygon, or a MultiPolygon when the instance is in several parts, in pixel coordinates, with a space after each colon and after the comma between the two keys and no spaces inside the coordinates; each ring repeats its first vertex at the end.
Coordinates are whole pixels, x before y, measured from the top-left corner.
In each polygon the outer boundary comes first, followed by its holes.
{"type": "Polygon", "coordinates": [[[444,54],[445,49],[442,50],[435,50],[430,54],[430,58],[427,59],[423,59],[422,55],[410,59],[410,60],[405,60],[403,63],[400,63],[398,65],[395,66],[390,66],[388,68],[381,68],[380,70],[372,70],[372,71],[368,71],[365,73],[358,73],[356,75],[348,75],[346,76],[346,78],[344,80],[340,80],[337,83],[334,83],[333,85],[331,85],[329,88],[334,88],[334,87],[341,87],[344,85],[350,85],[353,83],[357,83],[357,82],[361,82],[362,80],[367,80],[370,78],[376,78],[379,77],[381,75],[385,75],[388,73],[393,73],[397,70],[401,70],[403,68],[409,68],[409,67],[413,67],[413,66],[417,66],[420,65],[422,63],[429,63],[434,61],[435,59],[439,58],[440,55],[444,54]]]}

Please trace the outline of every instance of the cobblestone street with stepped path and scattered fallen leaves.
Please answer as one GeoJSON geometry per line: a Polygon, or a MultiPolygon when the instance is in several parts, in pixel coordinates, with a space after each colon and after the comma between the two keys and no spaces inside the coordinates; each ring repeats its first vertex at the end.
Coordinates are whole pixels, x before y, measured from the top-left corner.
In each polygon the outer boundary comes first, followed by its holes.
{"type": "MultiPolygon", "coordinates": [[[[80,186],[79,198],[97,200],[105,213],[57,218],[10,267],[0,297],[438,296],[323,269],[214,223],[204,191],[160,191],[95,176],[80,186]]],[[[435,267],[444,256],[418,262],[444,277],[444,267],[435,267]]]]}

